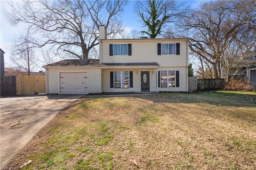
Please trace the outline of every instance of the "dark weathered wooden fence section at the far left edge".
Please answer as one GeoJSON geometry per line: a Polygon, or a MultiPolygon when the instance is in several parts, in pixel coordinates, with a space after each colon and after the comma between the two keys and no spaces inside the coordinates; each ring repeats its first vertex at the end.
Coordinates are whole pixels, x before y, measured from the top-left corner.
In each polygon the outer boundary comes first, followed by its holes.
{"type": "Polygon", "coordinates": [[[16,95],[16,77],[15,75],[4,76],[1,75],[0,82],[1,96],[13,96],[16,95]]]}

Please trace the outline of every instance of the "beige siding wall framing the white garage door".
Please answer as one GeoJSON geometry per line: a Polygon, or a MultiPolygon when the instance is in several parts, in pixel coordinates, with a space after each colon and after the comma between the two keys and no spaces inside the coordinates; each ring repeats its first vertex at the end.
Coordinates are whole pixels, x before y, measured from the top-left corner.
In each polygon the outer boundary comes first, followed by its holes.
{"type": "Polygon", "coordinates": [[[48,68],[48,93],[59,93],[59,73],[60,72],[88,72],[88,93],[100,93],[101,70],[100,68],[86,67],[55,67],[48,68]]]}

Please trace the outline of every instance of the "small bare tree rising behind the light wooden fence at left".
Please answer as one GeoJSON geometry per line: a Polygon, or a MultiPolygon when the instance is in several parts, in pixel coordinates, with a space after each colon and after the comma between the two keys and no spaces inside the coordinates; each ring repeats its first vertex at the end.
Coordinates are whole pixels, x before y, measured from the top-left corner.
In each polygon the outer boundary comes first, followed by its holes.
{"type": "Polygon", "coordinates": [[[33,44],[34,39],[29,36],[29,32],[26,35],[21,35],[12,42],[10,60],[18,66],[22,71],[26,71],[28,75],[38,67],[38,57],[35,55],[33,44]]]}

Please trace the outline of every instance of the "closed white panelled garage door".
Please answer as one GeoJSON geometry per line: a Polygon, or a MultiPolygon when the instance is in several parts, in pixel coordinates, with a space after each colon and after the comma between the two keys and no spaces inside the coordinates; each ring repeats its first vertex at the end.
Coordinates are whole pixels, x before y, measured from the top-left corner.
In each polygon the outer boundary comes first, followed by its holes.
{"type": "Polygon", "coordinates": [[[60,94],[88,94],[87,72],[60,73],[60,94]]]}

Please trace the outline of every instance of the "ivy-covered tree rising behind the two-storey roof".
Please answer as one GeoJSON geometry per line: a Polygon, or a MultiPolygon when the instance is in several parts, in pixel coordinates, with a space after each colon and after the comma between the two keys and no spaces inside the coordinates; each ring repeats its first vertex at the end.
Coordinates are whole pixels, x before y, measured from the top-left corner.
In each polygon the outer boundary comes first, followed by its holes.
{"type": "Polygon", "coordinates": [[[141,38],[156,38],[160,36],[166,26],[185,16],[189,10],[184,3],[177,4],[174,0],[143,0],[137,1],[134,11],[140,22],[147,28],[140,33],[141,38]]]}

